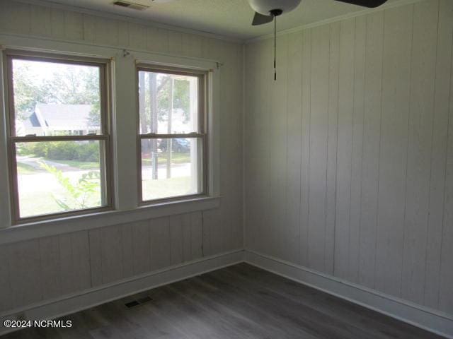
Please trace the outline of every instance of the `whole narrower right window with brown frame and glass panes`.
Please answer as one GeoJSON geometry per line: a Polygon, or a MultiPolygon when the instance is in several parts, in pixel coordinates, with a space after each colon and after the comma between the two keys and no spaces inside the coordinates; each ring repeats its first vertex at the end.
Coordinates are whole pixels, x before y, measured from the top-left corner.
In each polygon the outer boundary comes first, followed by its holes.
{"type": "Polygon", "coordinates": [[[138,66],[139,199],[206,194],[207,73],[138,66]]]}

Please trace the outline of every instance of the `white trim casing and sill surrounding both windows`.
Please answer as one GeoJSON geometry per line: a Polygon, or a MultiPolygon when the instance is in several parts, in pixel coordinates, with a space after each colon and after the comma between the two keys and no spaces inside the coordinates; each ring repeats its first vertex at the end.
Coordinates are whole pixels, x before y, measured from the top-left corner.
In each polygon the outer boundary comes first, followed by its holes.
{"type": "MultiPolygon", "coordinates": [[[[159,218],[166,215],[190,213],[195,210],[218,208],[220,204],[220,156],[219,156],[219,99],[220,72],[218,61],[178,57],[169,54],[128,49],[125,55],[120,47],[101,47],[81,42],[67,42],[18,35],[0,34],[1,49],[25,49],[28,51],[69,54],[74,56],[112,59],[113,93],[113,180],[115,182],[115,210],[68,218],[45,220],[23,225],[11,225],[8,175],[0,176],[0,244],[18,242],[35,237],[64,234],[77,230],[116,225],[136,220],[159,218]],[[208,131],[207,176],[208,196],[195,199],[181,199],[150,206],[138,207],[137,196],[137,139],[135,102],[135,64],[161,64],[179,68],[210,71],[208,88],[208,131]],[[133,151],[132,151],[133,150],[133,151]],[[132,161],[131,161],[132,160],[132,161]],[[91,222],[92,221],[92,222],[91,222]]],[[[3,58],[3,57],[2,57],[3,58]]],[[[3,65],[3,59],[0,60],[3,65]]],[[[0,172],[8,173],[6,158],[6,109],[4,97],[4,70],[0,66],[0,172]]]]}

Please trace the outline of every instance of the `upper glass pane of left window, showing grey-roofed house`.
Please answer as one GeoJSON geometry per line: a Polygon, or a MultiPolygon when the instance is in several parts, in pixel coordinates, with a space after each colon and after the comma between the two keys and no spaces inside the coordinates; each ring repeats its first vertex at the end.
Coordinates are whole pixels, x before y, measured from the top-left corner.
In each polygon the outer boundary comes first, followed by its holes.
{"type": "Polygon", "coordinates": [[[16,136],[101,134],[98,66],[12,62],[16,136]]]}

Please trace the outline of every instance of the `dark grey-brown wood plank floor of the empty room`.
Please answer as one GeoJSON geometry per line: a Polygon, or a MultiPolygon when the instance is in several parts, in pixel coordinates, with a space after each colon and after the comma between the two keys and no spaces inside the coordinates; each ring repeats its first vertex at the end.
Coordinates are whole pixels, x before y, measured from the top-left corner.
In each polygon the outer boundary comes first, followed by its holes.
{"type": "Polygon", "coordinates": [[[62,319],[2,339],[441,338],[245,263],[62,319]]]}

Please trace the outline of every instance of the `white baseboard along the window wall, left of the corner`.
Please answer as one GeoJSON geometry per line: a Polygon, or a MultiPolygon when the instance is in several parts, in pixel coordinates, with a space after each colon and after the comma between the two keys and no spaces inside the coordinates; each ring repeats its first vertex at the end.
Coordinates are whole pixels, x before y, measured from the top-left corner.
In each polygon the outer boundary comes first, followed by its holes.
{"type": "Polygon", "coordinates": [[[27,320],[55,319],[77,311],[89,309],[105,302],[134,295],[154,287],[174,283],[195,275],[231,266],[243,261],[243,250],[217,254],[197,259],[188,263],[171,266],[163,270],[137,275],[132,278],[116,281],[108,285],[94,287],[89,290],[66,295],[64,297],[46,300],[21,309],[0,314],[0,335],[16,331],[18,328],[4,328],[5,319],[17,319],[18,314],[27,320]]]}

